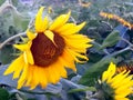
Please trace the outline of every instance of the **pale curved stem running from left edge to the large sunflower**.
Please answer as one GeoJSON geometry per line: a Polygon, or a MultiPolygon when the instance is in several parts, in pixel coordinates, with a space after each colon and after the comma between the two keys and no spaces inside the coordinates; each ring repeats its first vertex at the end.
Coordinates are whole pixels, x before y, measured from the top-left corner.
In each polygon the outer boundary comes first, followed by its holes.
{"type": "Polygon", "coordinates": [[[11,40],[20,37],[20,36],[25,36],[25,32],[22,32],[22,33],[19,33],[19,34],[16,34],[16,36],[12,36],[10,38],[8,38],[6,41],[3,41],[2,43],[0,43],[0,50],[8,43],[10,42],[11,40]]]}

